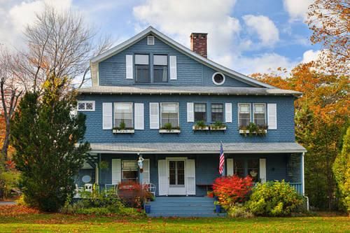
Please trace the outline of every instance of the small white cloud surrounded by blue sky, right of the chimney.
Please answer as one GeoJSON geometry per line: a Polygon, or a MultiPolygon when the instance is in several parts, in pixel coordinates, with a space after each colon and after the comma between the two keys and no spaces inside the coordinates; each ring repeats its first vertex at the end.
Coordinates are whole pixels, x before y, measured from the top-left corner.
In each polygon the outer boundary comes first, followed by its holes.
{"type": "Polygon", "coordinates": [[[258,34],[261,45],[272,46],[279,41],[279,29],[269,17],[265,15],[244,15],[243,20],[248,31],[258,34]]]}

